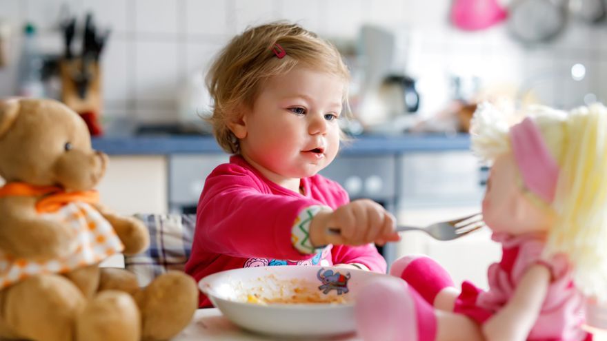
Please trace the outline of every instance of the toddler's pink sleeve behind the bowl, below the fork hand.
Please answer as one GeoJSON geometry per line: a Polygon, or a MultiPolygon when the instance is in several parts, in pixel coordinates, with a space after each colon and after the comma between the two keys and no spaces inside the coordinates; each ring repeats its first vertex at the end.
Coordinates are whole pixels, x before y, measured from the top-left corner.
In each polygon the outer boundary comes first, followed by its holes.
{"type": "Polygon", "coordinates": [[[386,273],[386,260],[379,254],[375,245],[367,244],[357,247],[334,245],[332,251],[333,264],[360,263],[370,271],[386,273]]]}

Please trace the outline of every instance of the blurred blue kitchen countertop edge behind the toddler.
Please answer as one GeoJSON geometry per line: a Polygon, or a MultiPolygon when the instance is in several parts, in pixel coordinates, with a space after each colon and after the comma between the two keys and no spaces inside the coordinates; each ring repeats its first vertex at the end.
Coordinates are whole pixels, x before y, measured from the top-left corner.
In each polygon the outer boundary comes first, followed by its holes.
{"type": "MultiPolygon", "coordinates": [[[[222,154],[212,136],[104,136],[92,139],[94,149],[110,155],[222,154]]],[[[468,150],[468,134],[362,135],[342,143],[341,155],[403,154],[468,150]]]]}

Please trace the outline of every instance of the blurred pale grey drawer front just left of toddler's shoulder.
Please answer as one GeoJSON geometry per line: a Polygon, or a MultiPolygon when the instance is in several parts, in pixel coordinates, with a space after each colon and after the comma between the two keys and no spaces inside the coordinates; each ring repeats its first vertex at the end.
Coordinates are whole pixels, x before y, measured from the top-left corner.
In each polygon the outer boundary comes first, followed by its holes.
{"type": "Polygon", "coordinates": [[[208,174],[221,163],[228,163],[229,158],[223,154],[170,156],[170,204],[196,205],[208,174]]]}

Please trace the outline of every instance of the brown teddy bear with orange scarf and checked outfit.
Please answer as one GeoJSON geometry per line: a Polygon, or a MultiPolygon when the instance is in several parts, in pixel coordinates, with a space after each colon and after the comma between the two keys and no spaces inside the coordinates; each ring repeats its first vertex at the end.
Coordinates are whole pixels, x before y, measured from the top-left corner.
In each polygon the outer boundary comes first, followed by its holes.
{"type": "Polygon", "coordinates": [[[0,102],[0,338],[166,340],[197,308],[195,281],[169,272],[140,289],[99,268],[148,247],[146,227],[97,203],[108,157],[86,124],[51,100],[0,102]]]}

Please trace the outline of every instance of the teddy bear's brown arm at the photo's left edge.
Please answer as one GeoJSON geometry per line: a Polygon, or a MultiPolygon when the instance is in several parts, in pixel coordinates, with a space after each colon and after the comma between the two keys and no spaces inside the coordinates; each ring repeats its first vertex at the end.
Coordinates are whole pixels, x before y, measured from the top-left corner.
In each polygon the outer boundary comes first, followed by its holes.
{"type": "Polygon", "coordinates": [[[0,249],[32,260],[70,254],[77,247],[76,231],[58,220],[40,218],[27,198],[0,202],[0,249]]]}

